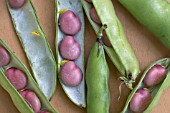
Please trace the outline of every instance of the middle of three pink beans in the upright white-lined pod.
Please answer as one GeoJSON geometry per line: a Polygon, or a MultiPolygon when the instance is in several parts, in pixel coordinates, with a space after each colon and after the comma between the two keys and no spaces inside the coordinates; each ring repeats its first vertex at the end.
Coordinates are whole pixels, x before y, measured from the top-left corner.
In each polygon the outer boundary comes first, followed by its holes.
{"type": "Polygon", "coordinates": [[[68,60],[75,60],[80,56],[80,45],[72,36],[66,36],[59,46],[60,54],[68,60]]]}

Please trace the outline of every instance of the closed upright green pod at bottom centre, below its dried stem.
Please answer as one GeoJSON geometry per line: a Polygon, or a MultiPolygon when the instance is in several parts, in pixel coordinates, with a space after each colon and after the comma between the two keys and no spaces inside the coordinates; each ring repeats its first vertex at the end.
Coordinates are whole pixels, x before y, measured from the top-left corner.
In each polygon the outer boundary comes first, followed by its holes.
{"type": "Polygon", "coordinates": [[[98,42],[92,47],[86,70],[87,113],[109,113],[108,65],[103,47],[98,54],[98,42]]]}

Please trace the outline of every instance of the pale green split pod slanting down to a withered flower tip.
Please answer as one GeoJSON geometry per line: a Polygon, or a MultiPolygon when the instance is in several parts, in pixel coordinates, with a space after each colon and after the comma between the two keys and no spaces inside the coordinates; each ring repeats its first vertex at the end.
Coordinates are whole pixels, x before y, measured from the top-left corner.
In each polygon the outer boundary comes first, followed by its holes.
{"type": "MultiPolygon", "coordinates": [[[[92,4],[81,0],[86,15],[94,28],[96,34],[100,29],[100,25],[93,22],[90,18],[90,9],[92,4]]],[[[102,22],[102,25],[107,25],[106,35],[111,42],[112,48],[105,46],[106,53],[111,58],[113,64],[118,68],[122,77],[120,77],[126,85],[132,89],[132,83],[135,82],[137,75],[140,72],[139,64],[136,56],[128,43],[122,25],[118,20],[114,6],[111,0],[92,0],[96,12],[102,22]]]]}

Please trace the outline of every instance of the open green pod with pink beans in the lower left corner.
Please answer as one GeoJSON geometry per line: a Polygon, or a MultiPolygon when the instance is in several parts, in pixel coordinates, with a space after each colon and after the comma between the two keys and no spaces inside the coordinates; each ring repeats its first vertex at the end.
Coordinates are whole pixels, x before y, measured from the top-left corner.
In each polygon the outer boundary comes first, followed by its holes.
{"type": "Polygon", "coordinates": [[[21,113],[57,113],[24,64],[0,39],[0,57],[10,58],[8,64],[0,66],[0,85],[9,93],[14,105],[21,113]],[[8,57],[7,57],[8,56],[8,57]],[[42,111],[42,112],[41,112],[42,111]]]}

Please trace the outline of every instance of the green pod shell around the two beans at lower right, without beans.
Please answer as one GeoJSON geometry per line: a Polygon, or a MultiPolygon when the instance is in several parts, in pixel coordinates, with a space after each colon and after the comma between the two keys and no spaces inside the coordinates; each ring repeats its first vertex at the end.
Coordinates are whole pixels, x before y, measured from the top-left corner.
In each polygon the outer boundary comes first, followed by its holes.
{"type": "Polygon", "coordinates": [[[131,113],[132,112],[129,108],[130,101],[132,100],[133,95],[139,88],[147,88],[146,85],[143,83],[143,80],[145,78],[146,73],[156,64],[161,65],[166,69],[166,78],[158,85],[155,85],[155,86],[149,88],[149,90],[151,90],[150,93],[151,93],[152,101],[149,104],[149,106],[145,109],[144,113],[150,113],[152,111],[153,107],[157,104],[163,90],[165,90],[170,85],[170,83],[169,83],[169,81],[170,81],[170,66],[169,66],[170,58],[164,58],[164,59],[158,60],[158,61],[154,62],[153,64],[151,64],[145,70],[139,83],[130,93],[122,113],[131,113]]]}

